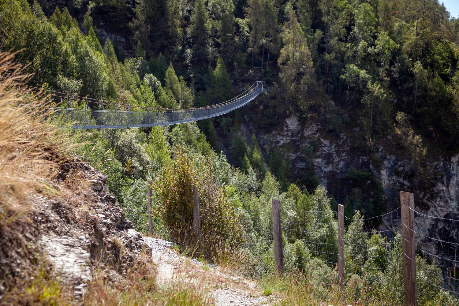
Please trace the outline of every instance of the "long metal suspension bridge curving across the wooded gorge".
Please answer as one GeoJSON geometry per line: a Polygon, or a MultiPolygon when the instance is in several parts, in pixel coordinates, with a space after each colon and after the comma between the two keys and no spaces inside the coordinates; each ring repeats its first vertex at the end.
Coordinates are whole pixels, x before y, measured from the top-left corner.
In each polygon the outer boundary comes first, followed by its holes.
{"type": "Polygon", "coordinates": [[[199,121],[217,117],[246,105],[266,89],[264,81],[252,84],[241,95],[231,100],[212,106],[179,109],[153,108],[134,106],[113,101],[104,101],[69,95],[39,87],[22,85],[27,92],[34,95],[45,95],[48,100],[59,103],[59,106],[42,106],[53,116],[69,120],[73,128],[144,128],[158,125],[199,121]],[[80,108],[81,107],[81,108],[80,108]]]}

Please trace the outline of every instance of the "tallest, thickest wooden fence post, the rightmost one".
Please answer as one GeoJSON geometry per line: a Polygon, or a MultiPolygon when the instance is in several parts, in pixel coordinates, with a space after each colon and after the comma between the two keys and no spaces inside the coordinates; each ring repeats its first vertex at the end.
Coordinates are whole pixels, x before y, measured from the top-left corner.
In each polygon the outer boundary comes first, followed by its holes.
{"type": "Polygon", "coordinates": [[[405,305],[417,306],[416,296],[416,247],[414,240],[414,196],[400,191],[402,211],[403,280],[405,285],[405,305]]]}

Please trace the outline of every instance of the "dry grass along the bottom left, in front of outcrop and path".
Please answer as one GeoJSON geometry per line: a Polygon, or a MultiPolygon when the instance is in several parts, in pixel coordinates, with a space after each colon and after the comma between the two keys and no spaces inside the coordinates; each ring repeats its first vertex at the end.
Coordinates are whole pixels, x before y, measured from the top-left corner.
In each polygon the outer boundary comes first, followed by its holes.
{"type": "Polygon", "coordinates": [[[24,278],[23,286],[12,288],[0,305],[68,305],[68,306],[118,306],[118,305],[213,305],[202,282],[190,278],[174,278],[166,285],[157,285],[157,271],[149,256],[143,253],[116,281],[107,278],[106,267],[95,272],[80,299],[59,281],[49,267],[37,267],[24,278]],[[25,289],[24,289],[25,288],[25,289]]]}

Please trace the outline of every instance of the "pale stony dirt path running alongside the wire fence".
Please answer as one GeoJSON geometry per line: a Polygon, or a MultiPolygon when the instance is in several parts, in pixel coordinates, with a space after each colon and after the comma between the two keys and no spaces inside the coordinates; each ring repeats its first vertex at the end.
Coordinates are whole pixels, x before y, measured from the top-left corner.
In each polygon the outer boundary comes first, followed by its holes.
{"type": "Polygon", "coordinates": [[[151,257],[158,265],[159,284],[170,283],[176,278],[204,282],[217,306],[275,305],[275,297],[261,295],[261,289],[250,280],[221,273],[219,267],[180,256],[170,241],[149,237],[143,240],[151,247],[151,257]]]}

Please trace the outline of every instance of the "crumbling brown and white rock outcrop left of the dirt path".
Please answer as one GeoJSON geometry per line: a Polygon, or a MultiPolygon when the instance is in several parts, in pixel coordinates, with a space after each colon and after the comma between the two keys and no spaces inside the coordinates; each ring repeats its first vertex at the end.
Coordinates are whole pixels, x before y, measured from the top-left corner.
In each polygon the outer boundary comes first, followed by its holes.
{"type": "Polygon", "coordinates": [[[47,184],[52,187],[29,195],[28,222],[17,226],[15,233],[0,235],[4,281],[32,277],[38,261],[78,296],[96,269],[116,279],[142,250],[151,252],[104,190],[107,178],[102,173],[71,160],[47,184]]]}

